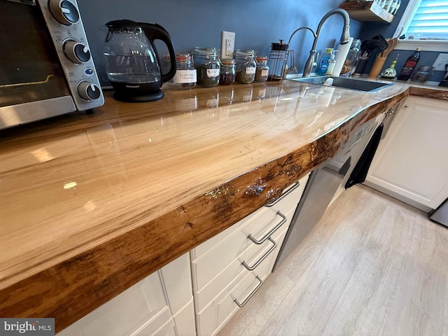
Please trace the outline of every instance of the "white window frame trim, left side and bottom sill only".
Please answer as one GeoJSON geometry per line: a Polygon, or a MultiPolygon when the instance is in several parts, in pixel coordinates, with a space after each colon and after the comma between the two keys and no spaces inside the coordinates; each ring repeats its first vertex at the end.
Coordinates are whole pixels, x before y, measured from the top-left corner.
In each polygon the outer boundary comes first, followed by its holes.
{"type": "MultiPolygon", "coordinates": [[[[407,3],[405,13],[403,13],[400,22],[398,23],[397,29],[395,29],[395,33],[393,37],[400,37],[402,35],[402,31],[409,24],[409,20],[416,7],[420,4],[421,0],[409,0],[407,3]]],[[[395,49],[400,50],[415,50],[416,48],[421,47],[422,50],[433,50],[433,51],[448,51],[448,41],[430,41],[430,40],[398,40],[398,45],[395,49]]]]}

